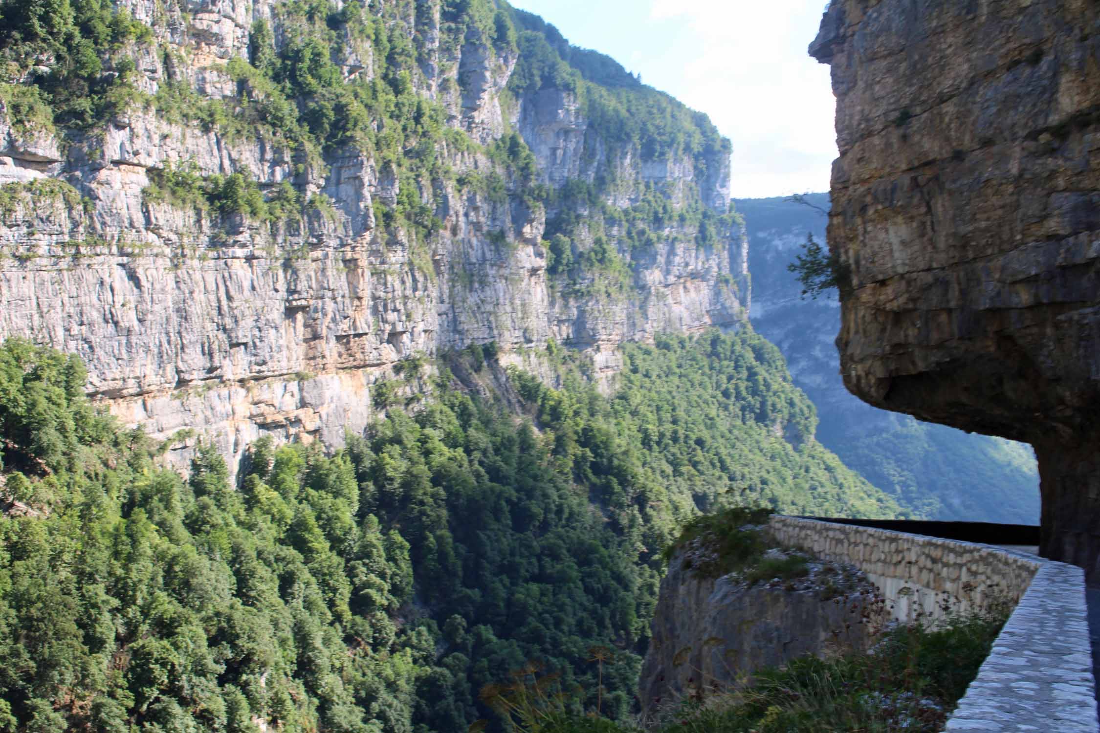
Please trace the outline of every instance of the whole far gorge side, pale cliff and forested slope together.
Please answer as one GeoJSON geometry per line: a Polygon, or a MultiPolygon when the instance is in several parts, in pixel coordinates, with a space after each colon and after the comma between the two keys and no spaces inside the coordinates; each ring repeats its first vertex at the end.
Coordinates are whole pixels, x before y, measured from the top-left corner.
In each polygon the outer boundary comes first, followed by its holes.
{"type": "Polygon", "coordinates": [[[625,721],[693,517],[980,506],[817,440],[730,143],[503,0],[7,0],[0,54],[0,730],[625,721]]]}

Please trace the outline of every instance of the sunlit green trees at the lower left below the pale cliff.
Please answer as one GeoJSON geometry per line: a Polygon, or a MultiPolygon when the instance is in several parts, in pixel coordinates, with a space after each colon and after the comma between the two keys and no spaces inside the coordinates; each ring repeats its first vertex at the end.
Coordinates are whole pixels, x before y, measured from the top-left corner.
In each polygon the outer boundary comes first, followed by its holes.
{"type": "Polygon", "coordinates": [[[52,491],[41,517],[0,518],[8,725],[411,730],[435,642],[399,628],[409,546],[361,507],[349,455],[261,443],[235,491],[202,446],[184,482],[91,411],[84,379],[74,357],[0,346],[8,486],[52,491]]]}

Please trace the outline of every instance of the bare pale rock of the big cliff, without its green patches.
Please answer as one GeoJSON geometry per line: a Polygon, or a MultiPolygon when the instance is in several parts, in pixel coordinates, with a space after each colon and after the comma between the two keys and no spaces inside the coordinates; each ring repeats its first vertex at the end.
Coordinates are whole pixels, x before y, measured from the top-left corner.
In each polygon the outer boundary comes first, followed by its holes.
{"type": "MultiPolygon", "coordinates": [[[[384,16],[377,27],[391,34],[407,30],[416,92],[464,133],[435,145],[447,173],[431,180],[402,178],[371,145],[310,152],[266,118],[241,130],[187,115],[238,93],[243,82],[228,63],[249,58],[257,22],[276,47],[293,40],[288,3],[117,4],[154,36],[120,53],[135,67],[124,111],[62,134],[24,130],[0,107],[0,337],[78,354],[94,398],[157,438],[179,436],[169,454],[177,462],[204,435],[234,465],[264,434],[339,445],[375,415],[372,385],[414,355],[495,341],[503,362],[520,362],[521,347],[553,340],[591,352],[606,377],[624,341],[745,318],[746,243],[736,226],[698,246],[697,223],[671,220],[635,256],[622,222],[601,220],[573,244],[604,237],[629,262],[630,289],[586,288],[584,277],[566,288],[548,276],[543,240],[557,212],[482,145],[517,130],[551,189],[614,173],[615,186],[600,189],[608,203],[630,206],[660,186],[669,196],[690,191],[696,206],[721,202],[718,213],[728,182],[713,171],[728,171],[728,155],[717,152],[696,181],[688,154],[649,159],[637,145],[606,142],[570,89],[509,97],[515,45],[494,43],[473,22],[444,21],[438,2],[362,11],[384,16]],[[176,98],[184,101],[164,101],[176,98]],[[268,199],[286,184],[310,203],[263,221],[150,195],[180,166],[200,177],[244,173],[268,199]],[[491,176],[502,187],[490,190],[491,176]],[[407,206],[402,187],[411,185],[430,224],[384,224],[407,206]]],[[[332,62],[346,79],[373,78],[385,63],[374,36],[349,29],[332,31],[343,34],[332,62]]]]}

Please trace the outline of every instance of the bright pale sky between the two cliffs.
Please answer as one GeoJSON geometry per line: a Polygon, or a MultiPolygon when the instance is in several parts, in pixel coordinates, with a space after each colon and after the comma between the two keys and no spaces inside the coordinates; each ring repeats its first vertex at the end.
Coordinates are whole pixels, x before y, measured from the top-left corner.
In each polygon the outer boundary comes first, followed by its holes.
{"type": "Polygon", "coordinates": [[[706,112],[734,144],[733,198],[828,190],[835,100],[806,55],[825,0],[509,1],[706,112]]]}

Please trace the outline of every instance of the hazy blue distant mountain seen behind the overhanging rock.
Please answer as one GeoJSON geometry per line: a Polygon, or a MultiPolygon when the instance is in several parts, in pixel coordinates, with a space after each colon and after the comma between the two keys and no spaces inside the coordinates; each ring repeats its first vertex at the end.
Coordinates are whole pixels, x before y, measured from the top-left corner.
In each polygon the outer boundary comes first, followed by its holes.
{"type": "MultiPolygon", "coordinates": [[[[827,210],[828,195],[805,200],[827,210]]],[[[839,303],[803,300],[787,265],[807,232],[825,242],[827,218],[782,198],[739,199],[747,221],[754,327],[787,357],[795,384],[817,406],[817,440],[871,484],[921,517],[1038,522],[1038,473],[1031,446],[968,434],[872,408],[844,388],[834,338],[839,303]]]]}

